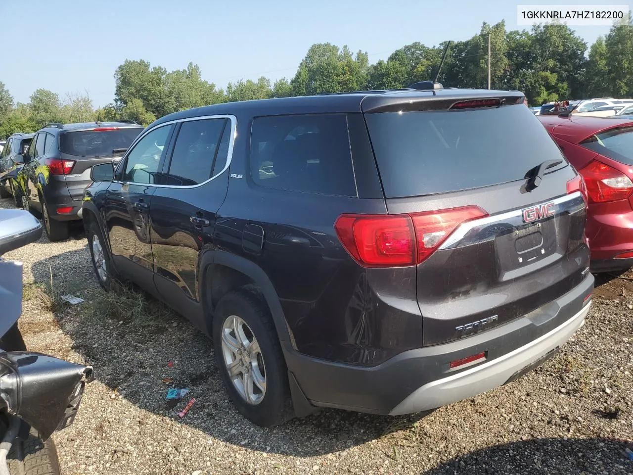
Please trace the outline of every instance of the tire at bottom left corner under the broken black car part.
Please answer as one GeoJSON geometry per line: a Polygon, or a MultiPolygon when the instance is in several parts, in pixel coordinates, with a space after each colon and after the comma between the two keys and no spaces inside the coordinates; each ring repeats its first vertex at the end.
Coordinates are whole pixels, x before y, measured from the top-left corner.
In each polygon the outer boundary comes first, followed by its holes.
{"type": "Polygon", "coordinates": [[[33,431],[27,440],[13,442],[7,462],[11,475],[61,475],[53,439],[43,442],[33,431]]]}

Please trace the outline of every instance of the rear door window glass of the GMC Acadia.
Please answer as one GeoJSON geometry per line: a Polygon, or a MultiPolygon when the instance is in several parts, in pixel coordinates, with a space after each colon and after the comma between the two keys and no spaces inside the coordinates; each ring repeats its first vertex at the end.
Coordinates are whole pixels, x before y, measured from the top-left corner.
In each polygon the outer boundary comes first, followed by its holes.
{"type": "MultiPolygon", "coordinates": [[[[213,176],[215,162],[224,167],[229,147],[221,144],[229,143],[230,129],[226,118],[183,122],[173,146],[167,184],[197,185],[213,176]]],[[[215,169],[220,172],[222,167],[215,169]]]]}

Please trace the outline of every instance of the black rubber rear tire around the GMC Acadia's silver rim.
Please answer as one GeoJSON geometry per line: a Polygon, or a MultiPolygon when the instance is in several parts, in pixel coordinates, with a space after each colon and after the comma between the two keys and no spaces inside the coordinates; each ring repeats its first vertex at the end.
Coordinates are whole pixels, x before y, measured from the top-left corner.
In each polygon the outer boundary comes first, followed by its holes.
{"type": "Polygon", "coordinates": [[[294,417],[285,365],[275,324],[268,307],[258,296],[240,289],[223,296],[213,317],[213,346],[215,357],[229,396],[237,410],[258,426],[278,426],[294,417]],[[242,399],[229,377],[222,354],[222,324],[230,315],[241,317],[249,327],[261,348],[266,368],[266,393],[258,405],[242,399]]]}

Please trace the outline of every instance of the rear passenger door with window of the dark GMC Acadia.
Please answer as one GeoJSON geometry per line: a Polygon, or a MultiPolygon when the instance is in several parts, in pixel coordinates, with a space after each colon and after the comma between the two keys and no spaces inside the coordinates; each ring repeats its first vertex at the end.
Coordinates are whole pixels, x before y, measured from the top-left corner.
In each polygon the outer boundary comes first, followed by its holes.
{"type": "Polygon", "coordinates": [[[225,116],[181,122],[165,161],[165,184],[156,187],[149,206],[156,289],[203,331],[198,263],[203,250],[213,248],[234,128],[235,119],[225,116]]]}

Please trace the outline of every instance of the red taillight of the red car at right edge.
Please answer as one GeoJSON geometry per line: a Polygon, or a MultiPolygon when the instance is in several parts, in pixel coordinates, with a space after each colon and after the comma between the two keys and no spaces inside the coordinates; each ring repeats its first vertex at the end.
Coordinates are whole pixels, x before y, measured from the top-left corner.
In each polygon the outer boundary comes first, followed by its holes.
{"type": "Polygon", "coordinates": [[[587,184],[589,200],[594,203],[625,200],[633,193],[630,178],[604,163],[591,162],[579,172],[587,184]]]}

